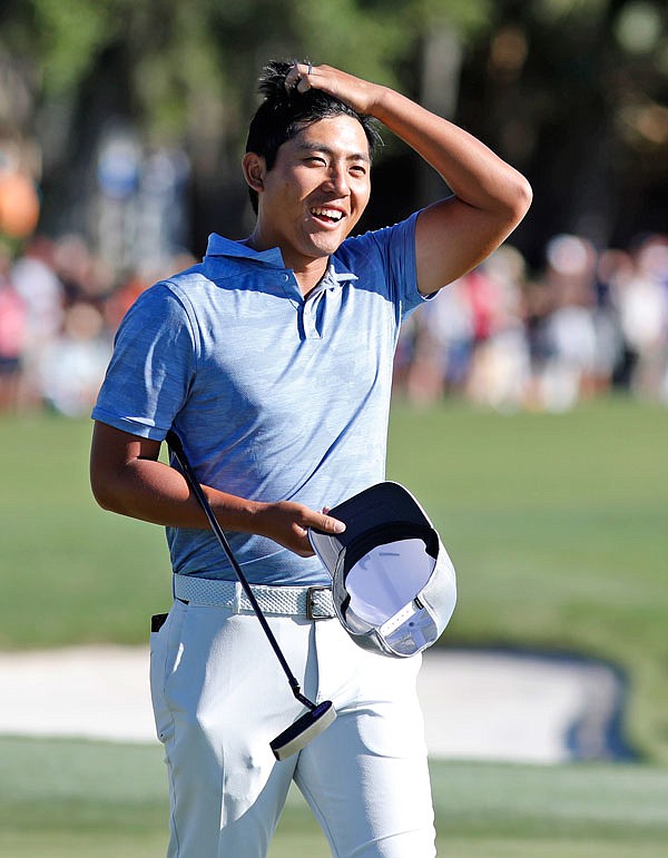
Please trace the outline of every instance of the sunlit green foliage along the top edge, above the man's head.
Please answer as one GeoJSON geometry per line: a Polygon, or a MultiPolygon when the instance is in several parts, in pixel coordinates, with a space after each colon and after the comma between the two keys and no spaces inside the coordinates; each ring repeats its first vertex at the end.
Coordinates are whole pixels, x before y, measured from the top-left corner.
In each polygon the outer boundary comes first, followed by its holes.
{"type": "Polygon", "coordinates": [[[174,138],[193,119],[191,99],[234,110],[272,56],[310,56],[396,86],[426,28],[466,38],[484,26],[490,2],[444,9],[438,0],[27,0],[8,16],[17,24],[8,47],[29,49],[46,100],[85,86],[106,50],[121,51],[137,120],[174,138]]]}

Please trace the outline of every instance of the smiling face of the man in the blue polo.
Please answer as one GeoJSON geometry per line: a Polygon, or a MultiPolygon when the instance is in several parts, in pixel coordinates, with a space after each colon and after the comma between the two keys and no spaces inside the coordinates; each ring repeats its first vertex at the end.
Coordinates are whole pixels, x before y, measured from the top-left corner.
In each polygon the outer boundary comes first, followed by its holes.
{"type": "Polygon", "coordinates": [[[284,142],[259,193],[263,244],[279,247],[296,269],[333,254],[366,208],[370,167],[354,117],[321,119],[284,142]]]}

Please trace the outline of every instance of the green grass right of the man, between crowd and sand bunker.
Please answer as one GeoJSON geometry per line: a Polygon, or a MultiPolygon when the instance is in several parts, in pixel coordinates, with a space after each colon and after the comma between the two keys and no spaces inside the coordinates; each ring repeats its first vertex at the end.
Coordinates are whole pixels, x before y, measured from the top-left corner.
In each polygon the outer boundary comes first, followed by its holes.
{"type": "Polygon", "coordinates": [[[582,653],[621,668],[627,732],[668,760],[668,411],[395,407],[389,474],[414,487],[458,569],[444,645],[582,653]]]}

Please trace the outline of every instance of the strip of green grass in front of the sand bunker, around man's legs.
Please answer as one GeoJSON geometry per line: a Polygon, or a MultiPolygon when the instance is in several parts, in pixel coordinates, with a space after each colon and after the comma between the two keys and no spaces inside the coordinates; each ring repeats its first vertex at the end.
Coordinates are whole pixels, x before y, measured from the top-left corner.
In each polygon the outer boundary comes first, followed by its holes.
{"type": "MultiPolygon", "coordinates": [[[[0,858],[159,858],[167,839],[161,749],[0,739],[0,858]]],[[[458,858],[659,858],[668,769],[434,762],[439,854],[458,858]]],[[[326,858],[291,792],[269,858],[326,858]]]]}

